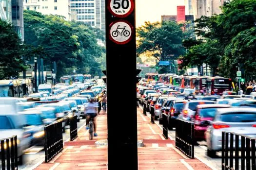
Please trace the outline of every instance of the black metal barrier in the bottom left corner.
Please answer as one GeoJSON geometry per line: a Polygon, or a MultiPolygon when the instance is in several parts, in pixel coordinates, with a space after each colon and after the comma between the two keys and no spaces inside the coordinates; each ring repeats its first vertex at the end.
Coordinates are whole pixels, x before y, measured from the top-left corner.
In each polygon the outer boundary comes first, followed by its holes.
{"type": "Polygon", "coordinates": [[[18,170],[17,136],[0,139],[1,170],[18,170]]]}

